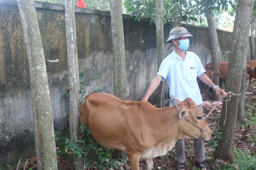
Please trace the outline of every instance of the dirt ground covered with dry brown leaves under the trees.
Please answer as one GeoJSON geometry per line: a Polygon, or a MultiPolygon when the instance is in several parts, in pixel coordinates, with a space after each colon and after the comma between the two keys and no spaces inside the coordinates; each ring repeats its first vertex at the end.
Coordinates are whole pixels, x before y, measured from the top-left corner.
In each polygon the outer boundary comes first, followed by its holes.
{"type": "MultiPolygon", "coordinates": [[[[255,84],[254,84],[255,85],[255,84]]],[[[252,103],[252,108],[254,110],[254,114],[256,112],[256,88],[252,90],[246,90],[246,96],[245,101],[250,101],[252,103]]],[[[203,101],[209,101],[210,95],[206,94],[203,96],[203,101]]],[[[245,106],[245,109],[247,109],[249,106],[245,106]]],[[[209,110],[204,110],[204,112],[209,113],[209,110]]],[[[217,126],[219,125],[219,119],[217,117],[220,117],[221,113],[217,113],[216,111],[213,111],[211,115],[206,119],[206,122],[209,124],[209,127],[211,130],[216,130],[217,126]]],[[[245,115],[247,116],[247,115],[245,115]]],[[[254,115],[255,116],[255,115],[254,115]]],[[[245,128],[247,126],[239,126],[236,128],[236,139],[235,139],[235,147],[237,150],[243,150],[245,152],[250,152],[253,155],[256,156],[256,147],[253,146],[256,136],[256,128],[248,126],[248,128],[245,128]],[[254,138],[252,138],[254,137],[254,138]],[[249,140],[249,138],[252,138],[253,140],[249,140]]],[[[226,161],[215,161],[213,157],[211,157],[211,153],[213,152],[211,147],[205,145],[205,151],[206,151],[206,164],[208,165],[210,170],[217,170],[219,169],[219,166],[221,164],[226,163],[226,161]]],[[[194,166],[193,161],[193,141],[186,139],[186,168],[187,170],[196,170],[194,166]]],[[[175,170],[175,152],[174,148],[172,152],[165,155],[164,157],[156,157],[153,159],[154,161],[154,170],[175,170]]],[[[20,165],[22,166],[22,165],[20,165]]],[[[28,160],[26,168],[24,169],[24,165],[19,168],[19,170],[28,170],[28,168],[33,167],[33,170],[37,170],[36,168],[36,159],[35,157],[32,157],[28,160]]],[[[72,164],[72,161],[65,161],[62,155],[58,155],[58,169],[59,170],[73,170],[74,166],[72,164]]],[[[125,166],[125,169],[130,170],[129,161],[127,162],[127,165],[125,166]]],[[[146,165],[143,160],[140,161],[140,170],[146,170],[146,165]]],[[[220,168],[221,169],[221,168],[220,168]]],[[[94,169],[96,170],[96,168],[94,169]]],[[[235,170],[235,168],[234,168],[235,170]]]]}

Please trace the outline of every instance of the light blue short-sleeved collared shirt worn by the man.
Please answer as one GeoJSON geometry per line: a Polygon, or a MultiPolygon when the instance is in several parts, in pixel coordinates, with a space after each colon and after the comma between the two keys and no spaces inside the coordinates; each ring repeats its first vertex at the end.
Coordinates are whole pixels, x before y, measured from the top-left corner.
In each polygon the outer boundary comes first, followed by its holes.
{"type": "Polygon", "coordinates": [[[197,77],[205,72],[199,57],[186,51],[186,57],[182,60],[175,51],[168,55],[161,63],[157,75],[166,78],[169,84],[169,96],[178,97],[180,101],[190,97],[197,105],[202,104],[197,77]]]}

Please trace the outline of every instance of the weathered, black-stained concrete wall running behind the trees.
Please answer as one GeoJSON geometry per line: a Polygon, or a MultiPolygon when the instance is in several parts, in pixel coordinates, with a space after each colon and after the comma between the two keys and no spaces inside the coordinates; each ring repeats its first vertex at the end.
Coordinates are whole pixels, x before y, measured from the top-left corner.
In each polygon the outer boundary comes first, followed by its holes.
{"type": "MultiPolygon", "coordinates": [[[[69,127],[69,104],[64,95],[69,83],[65,77],[68,67],[64,6],[36,2],[36,7],[45,52],[54,129],[65,134],[69,127]]],[[[148,21],[138,23],[130,16],[123,15],[129,100],[141,100],[158,71],[156,27],[148,26],[148,21]]],[[[182,26],[193,35],[188,50],[197,53],[204,66],[211,62],[208,29],[182,26]]],[[[171,25],[165,26],[165,41],[171,29],[171,25]]],[[[110,13],[76,8],[76,35],[80,71],[86,68],[87,74],[94,77],[99,73],[102,78],[93,85],[100,84],[104,92],[113,93],[110,13]]],[[[228,58],[232,35],[218,31],[218,36],[223,57],[228,58]]],[[[165,56],[172,51],[173,44],[165,43],[165,56]]],[[[155,101],[155,94],[150,101],[155,101]]],[[[26,160],[34,154],[30,79],[19,10],[16,0],[0,0],[0,168],[6,163],[17,165],[20,158],[26,160]]]]}

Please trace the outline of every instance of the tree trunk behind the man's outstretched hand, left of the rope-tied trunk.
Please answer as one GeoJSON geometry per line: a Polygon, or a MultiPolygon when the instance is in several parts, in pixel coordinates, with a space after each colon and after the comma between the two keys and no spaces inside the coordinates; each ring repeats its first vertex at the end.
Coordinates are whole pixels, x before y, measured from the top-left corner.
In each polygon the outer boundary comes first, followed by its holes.
{"type": "MultiPolygon", "coordinates": [[[[208,23],[208,29],[209,29],[209,37],[211,40],[211,63],[212,63],[212,69],[215,72],[219,72],[219,64],[218,62],[221,62],[221,48],[219,46],[219,39],[217,36],[216,26],[214,22],[213,16],[206,13],[207,23],[208,23]]],[[[216,85],[219,85],[219,76],[213,77],[213,83],[216,85]]],[[[223,88],[223,87],[222,87],[223,88]]],[[[219,98],[217,94],[214,92],[211,95],[211,99],[213,101],[218,101],[219,98]]]]}

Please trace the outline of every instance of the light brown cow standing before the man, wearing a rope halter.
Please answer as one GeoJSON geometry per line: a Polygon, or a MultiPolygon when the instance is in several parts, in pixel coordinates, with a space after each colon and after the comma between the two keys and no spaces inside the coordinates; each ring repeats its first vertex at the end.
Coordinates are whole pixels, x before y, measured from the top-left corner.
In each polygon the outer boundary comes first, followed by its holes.
{"type": "Polygon", "coordinates": [[[213,136],[192,99],[173,97],[171,102],[176,106],[155,108],[149,102],[92,93],[81,105],[80,120],[97,143],[125,151],[132,170],[139,170],[139,159],[146,159],[147,169],[152,170],[152,158],[165,155],[178,139],[210,141],[213,136]]]}

